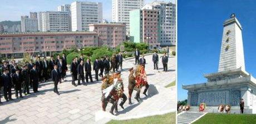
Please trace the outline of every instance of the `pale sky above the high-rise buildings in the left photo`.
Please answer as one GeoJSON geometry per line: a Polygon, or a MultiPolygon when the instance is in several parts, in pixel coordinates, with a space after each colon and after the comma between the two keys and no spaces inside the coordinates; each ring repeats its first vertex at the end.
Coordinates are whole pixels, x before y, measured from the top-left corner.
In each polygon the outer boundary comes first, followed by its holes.
{"type": "MultiPolygon", "coordinates": [[[[29,16],[29,12],[57,11],[61,4],[71,4],[76,0],[1,0],[0,1],[0,21],[21,20],[21,16],[29,16]]],[[[81,0],[85,1],[85,0],[81,0]]],[[[102,2],[103,18],[112,21],[112,1],[111,0],[87,0],[88,2],[102,2]]],[[[155,0],[144,0],[149,3],[155,0]]],[[[170,0],[163,0],[170,1],[170,0]]],[[[174,1],[174,0],[171,0],[174,1]]]]}

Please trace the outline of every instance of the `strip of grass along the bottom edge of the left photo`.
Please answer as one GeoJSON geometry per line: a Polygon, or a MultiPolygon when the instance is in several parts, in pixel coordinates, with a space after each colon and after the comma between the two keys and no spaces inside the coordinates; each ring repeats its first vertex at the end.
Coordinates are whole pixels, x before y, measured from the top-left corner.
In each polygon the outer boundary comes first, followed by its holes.
{"type": "Polygon", "coordinates": [[[116,121],[111,120],[107,124],[144,124],[144,123],[176,123],[176,112],[166,113],[164,115],[155,115],[131,120],[116,121]]]}

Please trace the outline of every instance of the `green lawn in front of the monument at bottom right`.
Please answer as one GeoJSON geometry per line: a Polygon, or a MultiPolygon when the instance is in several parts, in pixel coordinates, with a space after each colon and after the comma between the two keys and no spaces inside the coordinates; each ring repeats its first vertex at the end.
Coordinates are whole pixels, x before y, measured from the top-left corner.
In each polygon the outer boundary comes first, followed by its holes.
{"type": "Polygon", "coordinates": [[[224,114],[224,113],[207,113],[205,116],[195,121],[193,124],[200,123],[256,123],[256,115],[253,114],[224,114]]]}

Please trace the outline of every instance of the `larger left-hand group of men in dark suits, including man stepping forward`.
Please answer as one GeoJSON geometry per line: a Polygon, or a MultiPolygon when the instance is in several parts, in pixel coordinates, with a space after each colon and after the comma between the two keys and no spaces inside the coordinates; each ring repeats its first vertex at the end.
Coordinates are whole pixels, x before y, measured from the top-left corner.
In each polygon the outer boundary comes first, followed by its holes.
{"type": "MultiPolygon", "coordinates": [[[[26,62],[23,66],[19,67],[15,60],[9,64],[8,61],[4,61],[0,71],[0,91],[3,87],[4,99],[6,101],[13,100],[11,89],[14,87],[15,96],[23,98],[24,95],[30,94],[29,85],[33,89],[33,92],[38,92],[38,84],[45,80],[52,79],[55,82],[54,91],[59,95],[57,90],[57,82],[63,81],[67,71],[67,61],[65,54],[57,56],[54,60],[51,56],[51,60],[48,61],[45,58],[43,60],[38,57],[33,63],[33,60],[26,62]]],[[[0,94],[1,95],[1,94],[0,94]]],[[[0,96],[0,103],[1,96],[0,96]]]]}

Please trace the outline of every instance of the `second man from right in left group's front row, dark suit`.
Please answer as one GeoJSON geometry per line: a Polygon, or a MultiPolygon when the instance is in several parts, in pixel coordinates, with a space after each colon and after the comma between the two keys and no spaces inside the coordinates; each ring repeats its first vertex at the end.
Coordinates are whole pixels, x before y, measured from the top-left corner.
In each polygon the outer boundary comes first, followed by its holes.
{"type": "Polygon", "coordinates": [[[23,70],[21,71],[22,81],[23,81],[23,94],[27,95],[29,93],[29,71],[28,66],[24,65],[23,70]]]}

